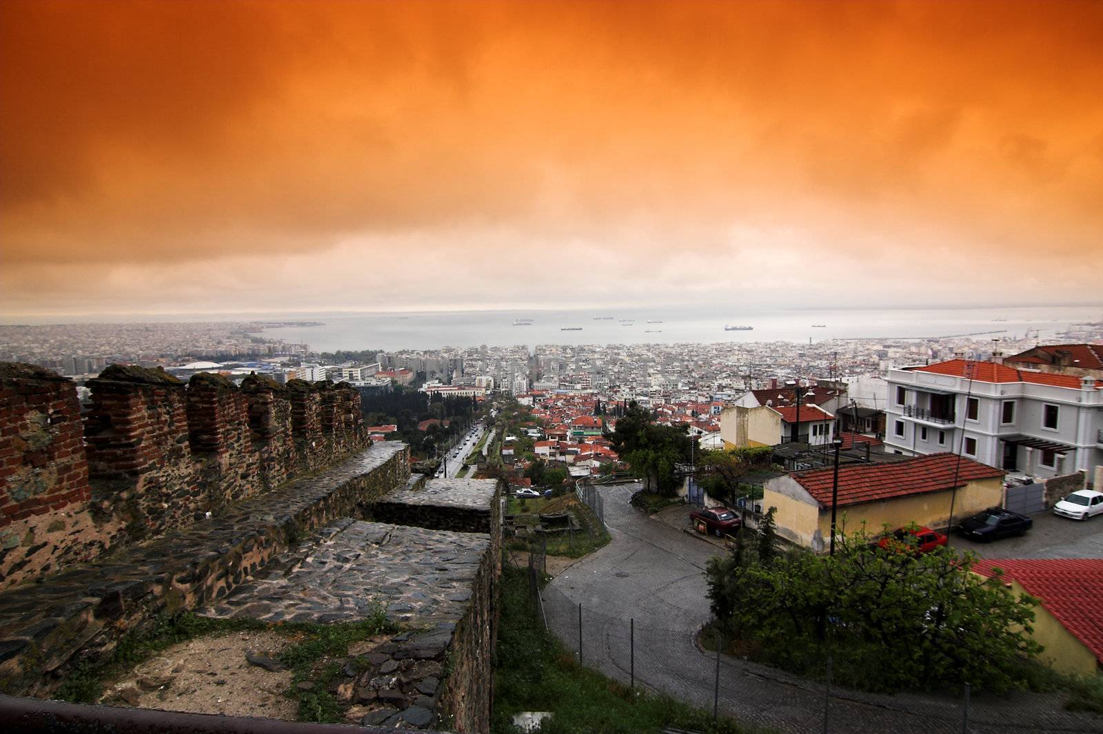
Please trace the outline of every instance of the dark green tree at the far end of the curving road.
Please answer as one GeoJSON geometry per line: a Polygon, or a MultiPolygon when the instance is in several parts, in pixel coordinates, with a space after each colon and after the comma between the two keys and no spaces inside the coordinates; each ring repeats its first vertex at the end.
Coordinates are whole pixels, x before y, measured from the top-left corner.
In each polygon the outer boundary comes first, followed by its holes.
{"type": "Polygon", "coordinates": [[[651,412],[633,401],[608,438],[613,451],[644,481],[646,490],[674,494],[674,465],[689,461],[693,449],[685,424],[656,425],[651,412]]]}

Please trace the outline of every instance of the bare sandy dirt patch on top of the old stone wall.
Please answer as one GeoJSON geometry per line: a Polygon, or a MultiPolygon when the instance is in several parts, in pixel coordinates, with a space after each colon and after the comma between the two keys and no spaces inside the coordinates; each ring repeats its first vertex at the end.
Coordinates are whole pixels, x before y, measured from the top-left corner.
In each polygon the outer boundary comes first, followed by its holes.
{"type": "Polygon", "coordinates": [[[288,670],[270,672],[246,654],[275,658],[288,646],[270,632],[201,637],[169,648],[116,681],[105,703],[192,713],[295,721],[298,703],[283,695],[288,670]]]}

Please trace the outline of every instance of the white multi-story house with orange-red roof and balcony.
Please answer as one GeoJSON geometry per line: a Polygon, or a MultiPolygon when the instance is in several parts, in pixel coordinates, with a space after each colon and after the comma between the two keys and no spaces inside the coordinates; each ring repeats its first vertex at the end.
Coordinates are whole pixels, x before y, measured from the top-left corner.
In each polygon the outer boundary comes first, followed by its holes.
{"type": "Polygon", "coordinates": [[[888,375],[886,450],[1047,478],[1103,464],[1103,381],[951,359],[888,375]]]}

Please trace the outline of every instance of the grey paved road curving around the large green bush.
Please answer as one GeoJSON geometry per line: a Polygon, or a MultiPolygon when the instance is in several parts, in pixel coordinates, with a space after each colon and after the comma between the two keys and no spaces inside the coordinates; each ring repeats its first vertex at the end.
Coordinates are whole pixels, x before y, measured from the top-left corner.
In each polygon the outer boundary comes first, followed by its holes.
{"type": "MultiPolygon", "coordinates": [[[[583,661],[628,682],[635,624],[636,682],[705,709],[713,706],[715,657],[700,651],[695,632],[708,619],[703,570],[717,549],[647,518],[628,504],[636,485],[608,487],[606,521],[612,541],[557,576],[545,590],[549,627],[577,649],[582,604],[583,661]]],[[[824,689],[803,679],[724,656],[720,711],[781,732],[822,732],[824,689]]],[[[1103,717],[1071,714],[1056,697],[1014,700],[974,694],[971,732],[1103,732],[1103,717]]],[[[871,695],[836,691],[831,732],[961,732],[954,698],[871,695]]]]}

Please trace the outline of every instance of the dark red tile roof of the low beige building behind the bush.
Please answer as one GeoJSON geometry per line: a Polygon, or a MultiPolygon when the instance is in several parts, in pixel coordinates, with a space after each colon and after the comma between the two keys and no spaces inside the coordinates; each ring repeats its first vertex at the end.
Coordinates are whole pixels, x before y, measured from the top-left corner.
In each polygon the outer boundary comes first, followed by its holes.
{"type": "MultiPolygon", "coordinates": [[[[941,492],[963,487],[974,479],[1002,477],[1003,469],[986,466],[955,454],[929,454],[893,462],[891,464],[858,464],[838,469],[838,505],[859,505],[880,499],[895,499],[927,492],[941,492]]],[[[833,469],[811,469],[791,475],[821,505],[831,505],[833,469]]]]}

